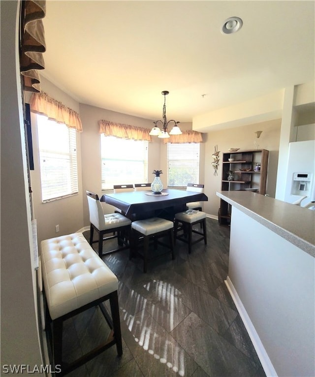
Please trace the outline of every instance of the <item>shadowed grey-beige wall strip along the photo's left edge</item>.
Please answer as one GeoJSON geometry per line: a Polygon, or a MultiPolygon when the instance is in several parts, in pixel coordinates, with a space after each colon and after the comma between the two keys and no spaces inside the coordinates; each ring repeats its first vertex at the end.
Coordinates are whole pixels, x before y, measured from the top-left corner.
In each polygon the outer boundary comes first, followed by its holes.
{"type": "Polygon", "coordinates": [[[18,60],[19,2],[1,1],[0,7],[1,365],[29,364],[32,368],[43,361],[18,60]]]}

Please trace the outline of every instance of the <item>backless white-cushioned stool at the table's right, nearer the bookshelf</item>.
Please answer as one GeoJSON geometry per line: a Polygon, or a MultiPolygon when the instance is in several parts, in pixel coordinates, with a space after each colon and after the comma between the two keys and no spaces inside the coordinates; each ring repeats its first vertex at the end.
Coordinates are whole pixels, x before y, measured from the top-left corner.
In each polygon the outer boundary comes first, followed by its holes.
{"type": "Polygon", "coordinates": [[[207,228],[206,228],[206,213],[196,210],[187,210],[184,212],[179,212],[175,215],[174,222],[174,239],[183,241],[188,244],[188,252],[191,252],[191,246],[199,241],[204,240],[205,245],[207,245],[207,228]],[[179,225],[181,223],[181,226],[179,225]],[[193,225],[200,224],[201,230],[193,229],[193,225]],[[178,232],[183,231],[183,234],[178,235],[178,232]],[[201,235],[198,239],[192,241],[192,233],[201,235]]]}

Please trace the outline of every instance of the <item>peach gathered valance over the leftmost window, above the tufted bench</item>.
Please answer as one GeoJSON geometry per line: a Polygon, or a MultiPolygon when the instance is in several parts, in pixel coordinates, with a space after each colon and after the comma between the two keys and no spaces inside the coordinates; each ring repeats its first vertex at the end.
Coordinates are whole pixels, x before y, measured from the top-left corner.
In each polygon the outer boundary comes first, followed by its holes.
{"type": "Polygon", "coordinates": [[[75,128],[78,132],[83,130],[81,119],[76,111],[64,106],[44,92],[32,94],[30,108],[33,113],[45,115],[50,120],[62,123],[69,128],[75,128]]]}

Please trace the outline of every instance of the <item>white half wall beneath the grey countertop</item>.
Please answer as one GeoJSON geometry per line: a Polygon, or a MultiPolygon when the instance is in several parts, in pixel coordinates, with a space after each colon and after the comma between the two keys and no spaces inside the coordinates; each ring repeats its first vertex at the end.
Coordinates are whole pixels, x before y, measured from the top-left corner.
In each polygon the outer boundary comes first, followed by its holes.
{"type": "Polygon", "coordinates": [[[314,257],[233,207],[228,276],[277,375],[314,376],[314,257]]]}

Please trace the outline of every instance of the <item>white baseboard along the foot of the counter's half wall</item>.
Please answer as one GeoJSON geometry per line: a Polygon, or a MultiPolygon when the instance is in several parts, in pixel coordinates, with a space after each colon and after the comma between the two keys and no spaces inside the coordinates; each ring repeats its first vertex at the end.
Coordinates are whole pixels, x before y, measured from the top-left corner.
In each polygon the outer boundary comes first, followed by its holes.
{"type": "Polygon", "coordinates": [[[228,291],[230,292],[230,295],[234,301],[234,304],[243,320],[244,326],[248,332],[248,335],[251,338],[252,345],[254,346],[257,356],[261,362],[261,365],[266,373],[267,377],[278,377],[277,372],[274,368],[274,366],[271,363],[271,360],[265,350],[265,347],[263,346],[253,324],[251,321],[251,318],[247,314],[247,311],[237,294],[237,291],[231,282],[230,278],[227,277],[226,280],[224,281],[225,285],[227,286],[228,291]]]}

